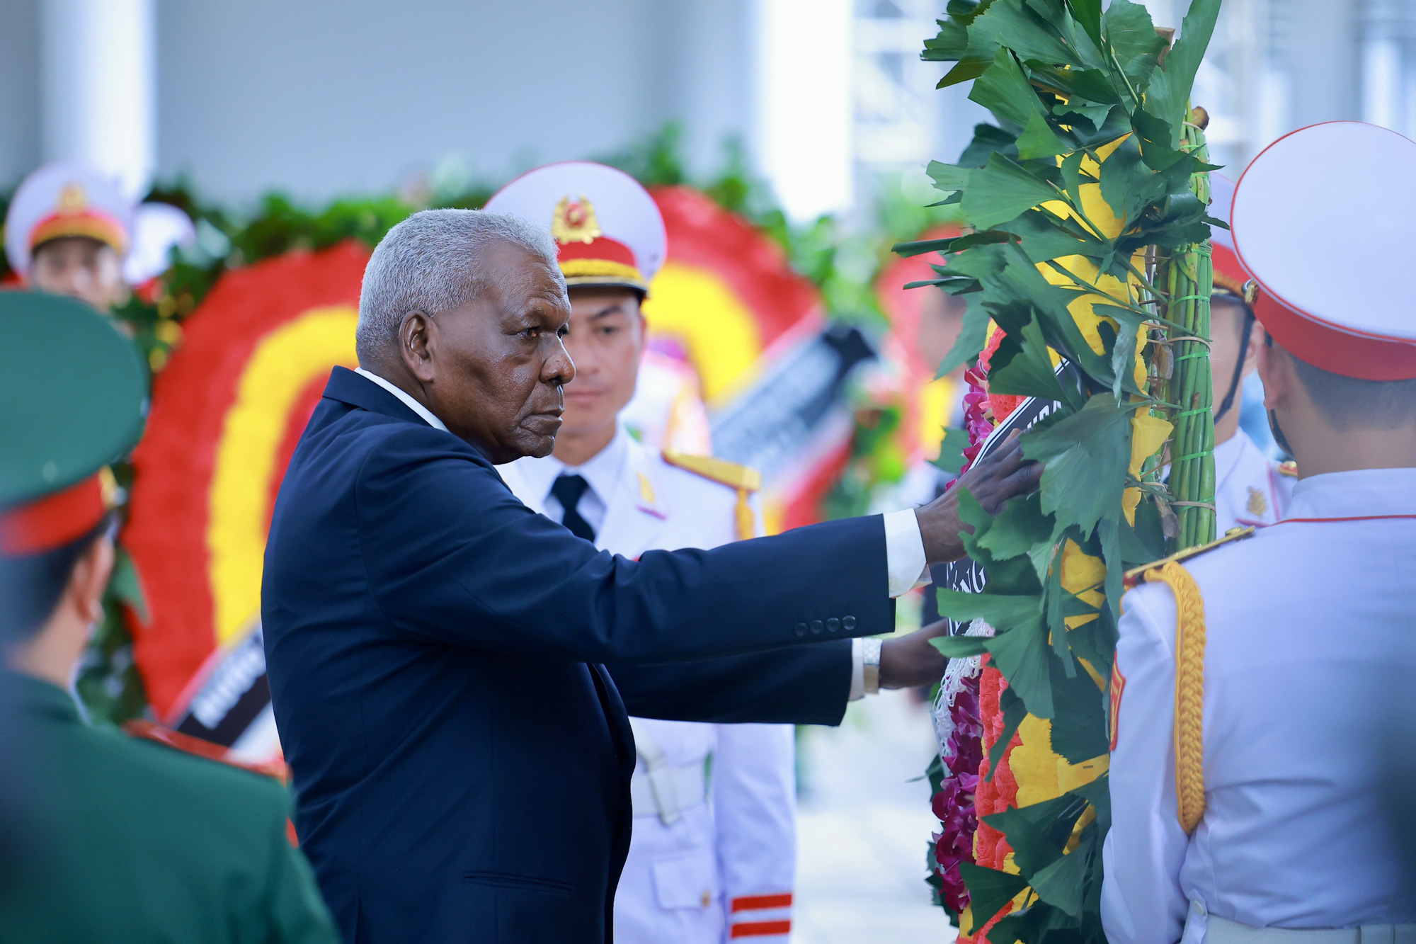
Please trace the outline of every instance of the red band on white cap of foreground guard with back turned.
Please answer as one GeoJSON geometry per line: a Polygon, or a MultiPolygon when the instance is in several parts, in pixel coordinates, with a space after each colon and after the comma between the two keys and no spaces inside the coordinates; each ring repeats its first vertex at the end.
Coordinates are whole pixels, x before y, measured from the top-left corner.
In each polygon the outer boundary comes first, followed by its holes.
{"type": "Polygon", "coordinates": [[[1253,313],[1283,350],[1314,367],[1358,380],[1416,380],[1416,342],[1324,322],[1284,305],[1262,285],[1253,313]]]}

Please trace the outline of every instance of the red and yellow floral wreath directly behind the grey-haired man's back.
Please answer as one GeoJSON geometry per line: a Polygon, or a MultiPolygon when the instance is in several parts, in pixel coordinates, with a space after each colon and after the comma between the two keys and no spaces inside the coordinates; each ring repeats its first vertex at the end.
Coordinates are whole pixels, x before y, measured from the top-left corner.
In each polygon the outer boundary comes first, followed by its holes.
{"type": "Polygon", "coordinates": [[[123,543],[147,595],[133,648],[159,719],[259,619],[275,495],[330,369],[357,363],[367,259],[350,242],[227,274],[154,381],[123,543]]]}

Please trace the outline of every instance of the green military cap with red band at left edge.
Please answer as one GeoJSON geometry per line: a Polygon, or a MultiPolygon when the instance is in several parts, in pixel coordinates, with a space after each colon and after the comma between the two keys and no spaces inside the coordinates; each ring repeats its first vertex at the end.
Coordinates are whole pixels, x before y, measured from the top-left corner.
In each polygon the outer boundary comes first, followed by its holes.
{"type": "Polygon", "coordinates": [[[0,553],[82,534],[69,532],[91,515],[99,473],[133,448],[146,412],[147,369],[112,319],[0,292],[0,553]]]}

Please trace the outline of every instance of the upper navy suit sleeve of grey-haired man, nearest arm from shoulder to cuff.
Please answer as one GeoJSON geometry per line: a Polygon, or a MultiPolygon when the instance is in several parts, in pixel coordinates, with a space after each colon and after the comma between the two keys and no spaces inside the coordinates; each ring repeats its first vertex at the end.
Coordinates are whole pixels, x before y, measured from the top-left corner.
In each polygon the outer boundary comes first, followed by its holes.
{"type": "Polygon", "coordinates": [[[892,629],[879,517],[632,561],[532,513],[470,446],[412,425],[364,458],[355,509],[374,601],[435,642],[647,663],[892,629]]]}

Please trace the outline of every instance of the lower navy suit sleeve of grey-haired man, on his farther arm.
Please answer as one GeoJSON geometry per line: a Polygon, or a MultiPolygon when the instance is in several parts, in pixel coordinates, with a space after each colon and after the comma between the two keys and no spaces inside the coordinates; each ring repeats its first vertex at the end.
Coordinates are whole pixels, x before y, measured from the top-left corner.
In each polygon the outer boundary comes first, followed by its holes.
{"type": "Polygon", "coordinates": [[[704,662],[606,668],[634,717],[835,726],[851,690],[851,644],[838,639],[704,662]]]}

